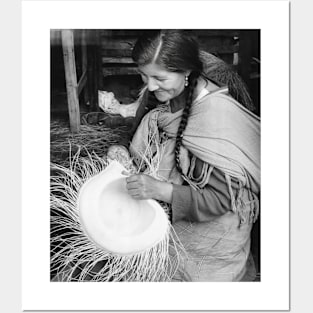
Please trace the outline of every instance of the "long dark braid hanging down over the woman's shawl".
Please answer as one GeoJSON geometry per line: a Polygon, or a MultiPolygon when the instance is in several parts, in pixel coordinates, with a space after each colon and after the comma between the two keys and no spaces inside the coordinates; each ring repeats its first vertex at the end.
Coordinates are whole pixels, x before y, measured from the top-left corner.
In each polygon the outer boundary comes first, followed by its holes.
{"type": "Polygon", "coordinates": [[[179,163],[180,148],[182,146],[182,141],[183,141],[183,132],[186,129],[187,122],[188,122],[189,112],[190,112],[191,104],[193,101],[194,90],[197,86],[198,76],[199,75],[195,75],[195,74],[190,74],[189,76],[189,86],[187,87],[188,92],[186,94],[186,105],[182,113],[182,118],[180,120],[180,124],[179,124],[177,135],[176,135],[175,160],[176,160],[176,168],[181,175],[183,175],[183,171],[179,163]]]}

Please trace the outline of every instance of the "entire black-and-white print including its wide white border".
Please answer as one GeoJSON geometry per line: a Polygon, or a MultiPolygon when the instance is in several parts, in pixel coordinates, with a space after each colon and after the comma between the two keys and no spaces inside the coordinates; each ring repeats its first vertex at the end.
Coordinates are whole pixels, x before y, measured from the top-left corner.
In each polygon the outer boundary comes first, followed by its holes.
{"type": "Polygon", "coordinates": [[[288,3],[196,3],[24,4],[24,309],[288,308],[288,3]]]}

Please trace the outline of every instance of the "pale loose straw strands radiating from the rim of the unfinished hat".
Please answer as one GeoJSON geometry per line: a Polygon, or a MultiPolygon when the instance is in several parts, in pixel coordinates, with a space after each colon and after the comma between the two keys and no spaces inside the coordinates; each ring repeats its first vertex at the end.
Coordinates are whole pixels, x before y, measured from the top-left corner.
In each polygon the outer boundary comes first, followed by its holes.
{"type": "MultiPolygon", "coordinates": [[[[80,188],[103,171],[110,159],[79,149],[69,167],[51,164],[51,270],[53,281],[169,281],[184,253],[170,222],[163,240],[135,255],[116,255],[98,247],[79,219],[80,188]],[[171,255],[171,256],[170,256],[171,255]]],[[[165,208],[168,209],[168,208],[165,208]]]]}

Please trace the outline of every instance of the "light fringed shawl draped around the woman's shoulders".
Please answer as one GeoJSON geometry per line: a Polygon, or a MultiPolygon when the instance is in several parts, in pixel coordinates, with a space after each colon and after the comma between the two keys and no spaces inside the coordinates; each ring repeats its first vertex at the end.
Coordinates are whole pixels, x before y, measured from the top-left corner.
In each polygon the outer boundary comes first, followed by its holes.
{"type": "MultiPolygon", "coordinates": [[[[194,188],[203,186],[188,176],[192,163],[189,152],[210,165],[202,181],[208,181],[212,166],[222,170],[229,186],[232,209],[237,211],[242,199],[234,198],[231,179],[238,180],[240,188],[250,192],[251,201],[260,191],[260,119],[225,91],[227,89],[222,88],[209,93],[192,104],[183,132],[180,163],[185,174],[183,178],[194,188]]],[[[150,111],[139,125],[130,147],[135,159],[139,158],[151,144],[151,134],[158,134],[164,150],[159,176],[178,184],[182,179],[175,167],[174,148],[182,112],[171,113],[169,106],[164,105],[150,111]],[[162,141],[164,136],[166,140],[162,141]]]]}

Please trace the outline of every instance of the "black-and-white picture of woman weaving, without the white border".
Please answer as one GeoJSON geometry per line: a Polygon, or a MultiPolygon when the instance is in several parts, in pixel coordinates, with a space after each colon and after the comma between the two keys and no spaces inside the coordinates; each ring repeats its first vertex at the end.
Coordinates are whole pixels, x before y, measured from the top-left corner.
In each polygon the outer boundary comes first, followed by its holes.
{"type": "Polygon", "coordinates": [[[260,30],[51,30],[52,281],[259,281],[260,30]]]}

